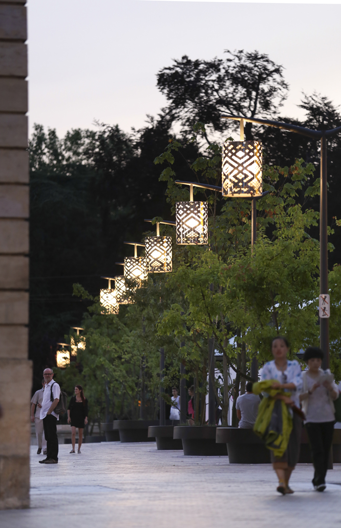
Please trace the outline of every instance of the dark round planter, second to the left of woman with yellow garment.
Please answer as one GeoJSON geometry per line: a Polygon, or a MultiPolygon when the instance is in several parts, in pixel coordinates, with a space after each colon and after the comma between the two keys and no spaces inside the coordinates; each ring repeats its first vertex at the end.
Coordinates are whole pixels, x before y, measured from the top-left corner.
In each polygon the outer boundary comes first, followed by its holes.
{"type": "Polygon", "coordinates": [[[179,426],[174,427],[174,439],[182,440],[186,456],[227,456],[224,444],[216,444],[216,426],[179,426]]]}

